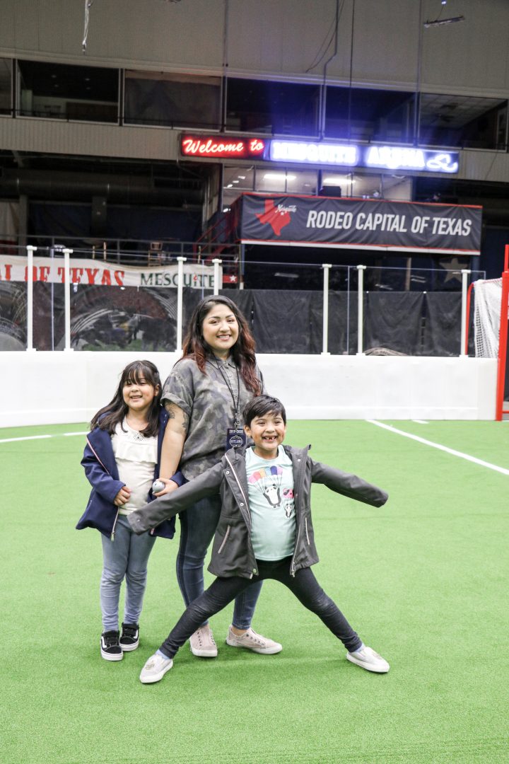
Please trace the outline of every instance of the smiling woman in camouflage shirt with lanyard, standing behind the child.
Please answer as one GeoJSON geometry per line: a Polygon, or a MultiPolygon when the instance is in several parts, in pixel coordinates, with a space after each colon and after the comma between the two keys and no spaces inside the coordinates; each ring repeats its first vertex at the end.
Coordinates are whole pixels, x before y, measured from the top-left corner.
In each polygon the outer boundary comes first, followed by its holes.
{"type": "MultiPolygon", "coordinates": [[[[262,392],[262,375],[246,319],[229,298],[205,297],[192,314],[182,358],[163,387],[162,400],[169,419],[159,472],[165,489],[156,495],[176,490],[176,482],[168,476],[177,469],[191,480],[216,464],[227,448],[245,442],[241,412],[262,392]]],[[[220,514],[221,498],[217,494],[180,515],[177,579],[186,605],[204,589],[205,555],[220,514]]],[[[253,583],[235,600],[227,643],[272,655],[282,646],[251,628],[260,589],[261,582],[253,583]]],[[[217,656],[208,623],[202,624],[189,641],[195,656],[217,656]]]]}

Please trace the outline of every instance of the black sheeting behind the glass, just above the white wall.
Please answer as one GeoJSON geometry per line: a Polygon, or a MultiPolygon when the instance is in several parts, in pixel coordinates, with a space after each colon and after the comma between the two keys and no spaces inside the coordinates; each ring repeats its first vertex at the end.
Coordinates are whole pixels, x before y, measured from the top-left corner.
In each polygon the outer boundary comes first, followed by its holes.
{"type": "MultiPolygon", "coordinates": [[[[183,290],[182,326],[202,296],[183,290]]],[[[318,354],[323,345],[324,296],[314,290],[225,290],[250,325],[259,353],[318,354]]],[[[357,352],[357,293],[331,291],[327,351],[357,352]]],[[[165,287],[73,286],[71,345],[75,350],[166,351],[176,349],[177,290],[165,287]]],[[[26,284],[0,285],[0,349],[26,348],[26,284]]],[[[65,345],[64,287],[34,283],[34,348],[65,345]]],[[[459,355],[461,294],[375,292],[364,294],[364,351],[408,355],[459,355]]],[[[469,348],[473,354],[472,331],[469,348]]]]}

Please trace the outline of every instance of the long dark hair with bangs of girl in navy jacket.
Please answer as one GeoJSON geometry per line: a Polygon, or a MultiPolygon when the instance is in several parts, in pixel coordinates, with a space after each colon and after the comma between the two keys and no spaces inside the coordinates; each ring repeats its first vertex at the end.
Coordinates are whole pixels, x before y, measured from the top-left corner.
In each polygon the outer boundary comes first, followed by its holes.
{"type": "Polygon", "coordinates": [[[109,432],[110,435],[113,435],[115,427],[119,422],[121,423],[124,421],[124,417],[127,415],[129,410],[127,403],[124,402],[124,384],[126,384],[127,381],[140,384],[142,379],[145,380],[145,382],[148,382],[148,384],[152,385],[154,390],[156,390],[156,395],[154,396],[152,405],[148,411],[147,427],[143,430],[140,430],[140,432],[145,436],[145,438],[150,438],[152,435],[157,435],[157,432],[159,431],[159,411],[161,408],[162,387],[159,371],[157,371],[157,367],[154,366],[151,361],[133,361],[132,363],[127,364],[127,366],[124,368],[124,371],[122,372],[121,379],[118,383],[118,388],[114,394],[114,397],[106,406],[103,406],[101,409],[99,409],[98,413],[92,417],[92,422],[90,422],[90,429],[98,427],[99,429],[106,430],[106,432],[109,432]]]}

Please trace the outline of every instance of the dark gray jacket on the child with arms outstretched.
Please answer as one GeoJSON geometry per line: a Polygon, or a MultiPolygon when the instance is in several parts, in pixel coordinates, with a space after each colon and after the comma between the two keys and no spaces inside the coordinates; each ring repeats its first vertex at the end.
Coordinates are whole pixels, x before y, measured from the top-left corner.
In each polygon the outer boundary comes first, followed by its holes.
{"type": "MultiPolygon", "coordinates": [[[[351,499],[382,507],[387,494],[354,474],[322,465],[308,456],[307,448],[284,445],[292,460],[295,498],[295,550],[290,572],[309,568],[318,562],[311,522],[311,483],[322,483],[351,499]]],[[[224,457],[198,478],[178,490],[130,513],[127,520],[135,533],[157,526],[207,496],[221,493],[221,516],[217,523],[211,564],[208,570],[216,576],[253,578],[258,574],[251,544],[251,515],[247,490],[245,449],[230,449],[224,457]]]]}

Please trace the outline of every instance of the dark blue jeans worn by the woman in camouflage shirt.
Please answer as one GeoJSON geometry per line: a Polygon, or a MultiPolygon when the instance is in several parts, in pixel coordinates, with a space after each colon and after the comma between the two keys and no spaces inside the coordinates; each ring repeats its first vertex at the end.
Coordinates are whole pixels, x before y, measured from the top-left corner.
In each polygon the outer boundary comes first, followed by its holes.
{"type": "MultiPolygon", "coordinates": [[[[219,494],[197,501],[179,515],[180,545],[177,555],[177,581],[179,581],[186,605],[192,603],[203,592],[205,556],[214,538],[220,515],[219,494]]],[[[232,625],[237,629],[249,629],[251,626],[261,588],[262,582],[256,581],[235,599],[232,625]]]]}

